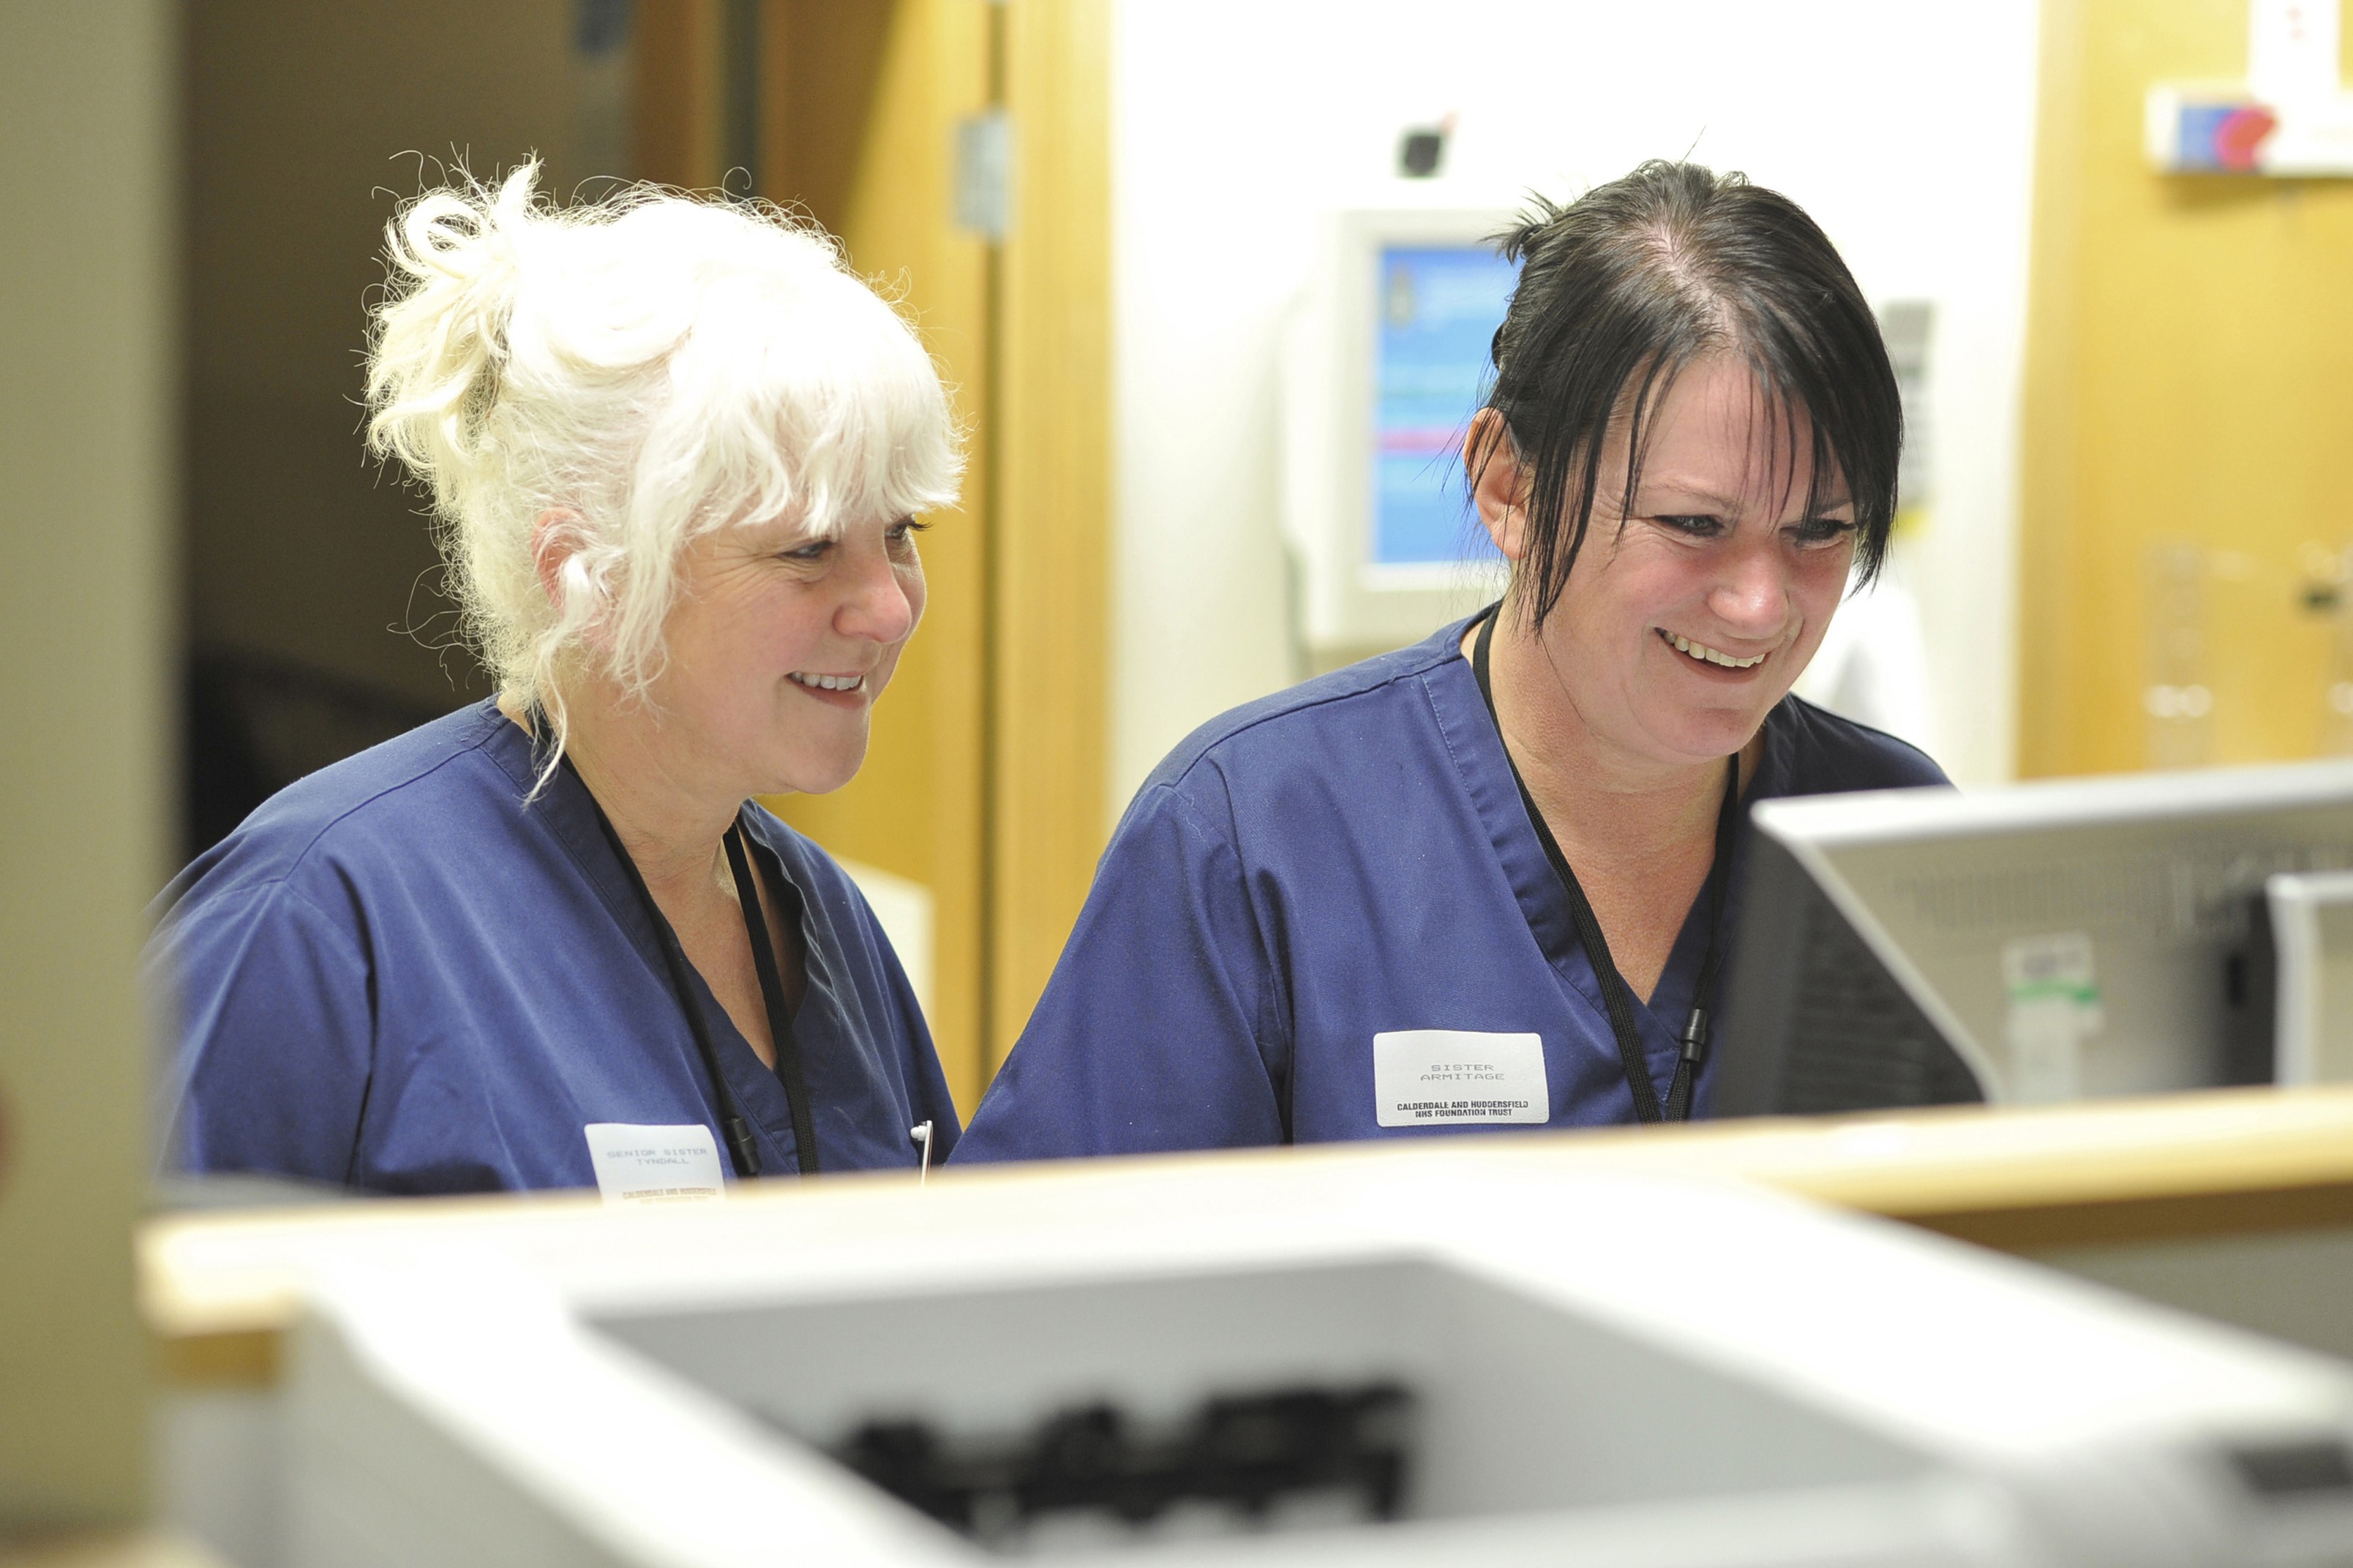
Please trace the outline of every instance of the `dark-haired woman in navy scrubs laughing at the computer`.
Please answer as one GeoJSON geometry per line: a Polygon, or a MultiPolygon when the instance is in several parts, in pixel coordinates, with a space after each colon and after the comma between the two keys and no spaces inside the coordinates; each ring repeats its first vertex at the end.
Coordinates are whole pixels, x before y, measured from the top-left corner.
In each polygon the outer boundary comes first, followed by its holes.
{"type": "Polygon", "coordinates": [[[1821,230],[1645,165],[1506,254],[1464,447],[1504,602],[1160,764],[958,1159],[1687,1117],[1744,804],[1944,783],[1788,696],[1904,442],[1821,230]]]}

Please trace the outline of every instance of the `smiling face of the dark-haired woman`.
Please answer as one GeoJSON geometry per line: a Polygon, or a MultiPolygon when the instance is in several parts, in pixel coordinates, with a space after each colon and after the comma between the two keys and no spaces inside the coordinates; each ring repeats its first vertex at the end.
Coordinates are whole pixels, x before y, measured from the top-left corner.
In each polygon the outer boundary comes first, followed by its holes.
{"type": "Polygon", "coordinates": [[[1809,444],[1802,414],[1777,416],[1734,357],[1687,367],[1659,400],[1631,505],[1626,430],[1612,433],[1586,545],[1539,632],[1595,741],[1642,762],[1720,759],[1795,684],[1854,559],[1842,480],[1807,508],[1809,444]]]}

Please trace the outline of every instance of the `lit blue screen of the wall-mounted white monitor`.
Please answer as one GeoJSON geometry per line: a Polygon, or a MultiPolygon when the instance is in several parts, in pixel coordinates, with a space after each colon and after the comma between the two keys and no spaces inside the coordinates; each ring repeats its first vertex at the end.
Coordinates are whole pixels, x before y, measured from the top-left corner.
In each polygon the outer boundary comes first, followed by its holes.
{"type": "Polygon", "coordinates": [[[1518,266],[1473,244],[1381,252],[1374,376],[1372,562],[1494,559],[1468,517],[1459,442],[1518,266]]]}

